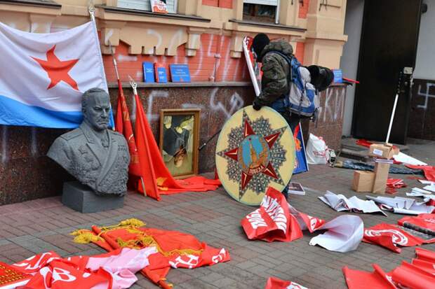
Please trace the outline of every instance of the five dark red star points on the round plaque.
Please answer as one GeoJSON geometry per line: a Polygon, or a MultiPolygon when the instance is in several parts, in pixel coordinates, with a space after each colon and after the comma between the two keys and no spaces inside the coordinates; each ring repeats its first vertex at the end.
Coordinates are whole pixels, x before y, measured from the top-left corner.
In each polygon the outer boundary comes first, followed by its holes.
{"type": "MultiPolygon", "coordinates": [[[[274,146],[274,143],[279,138],[279,135],[281,132],[276,132],[274,134],[269,134],[268,136],[265,136],[264,139],[267,143],[267,146],[269,146],[269,149],[274,146]]],[[[252,127],[250,127],[248,120],[245,120],[245,125],[243,129],[243,138],[246,138],[246,136],[255,135],[254,130],[252,127]]],[[[235,160],[238,162],[238,154],[239,154],[239,148],[233,148],[232,150],[227,151],[225,155],[232,160],[235,160]]],[[[271,176],[272,178],[278,179],[278,176],[274,170],[274,167],[272,167],[272,163],[269,162],[267,164],[267,167],[261,171],[262,174],[265,174],[267,176],[271,176]]],[[[246,172],[241,172],[241,189],[243,190],[246,185],[248,185],[249,181],[253,178],[252,174],[246,174],[246,172]]]]}

